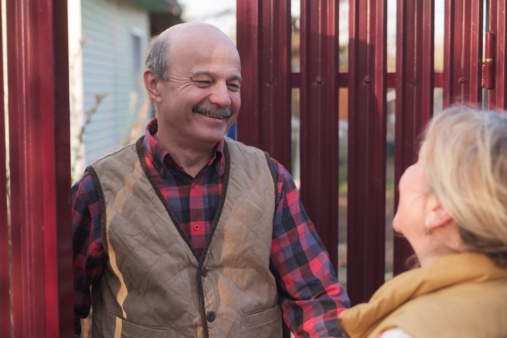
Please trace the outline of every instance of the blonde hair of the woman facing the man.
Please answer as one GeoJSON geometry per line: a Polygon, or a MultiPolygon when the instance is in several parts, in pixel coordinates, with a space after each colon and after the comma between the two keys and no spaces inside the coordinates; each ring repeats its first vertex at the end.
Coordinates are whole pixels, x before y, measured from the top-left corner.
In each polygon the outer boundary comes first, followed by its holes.
{"type": "Polygon", "coordinates": [[[448,108],[424,144],[428,185],[467,248],[507,266],[507,115],[448,108]]]}

